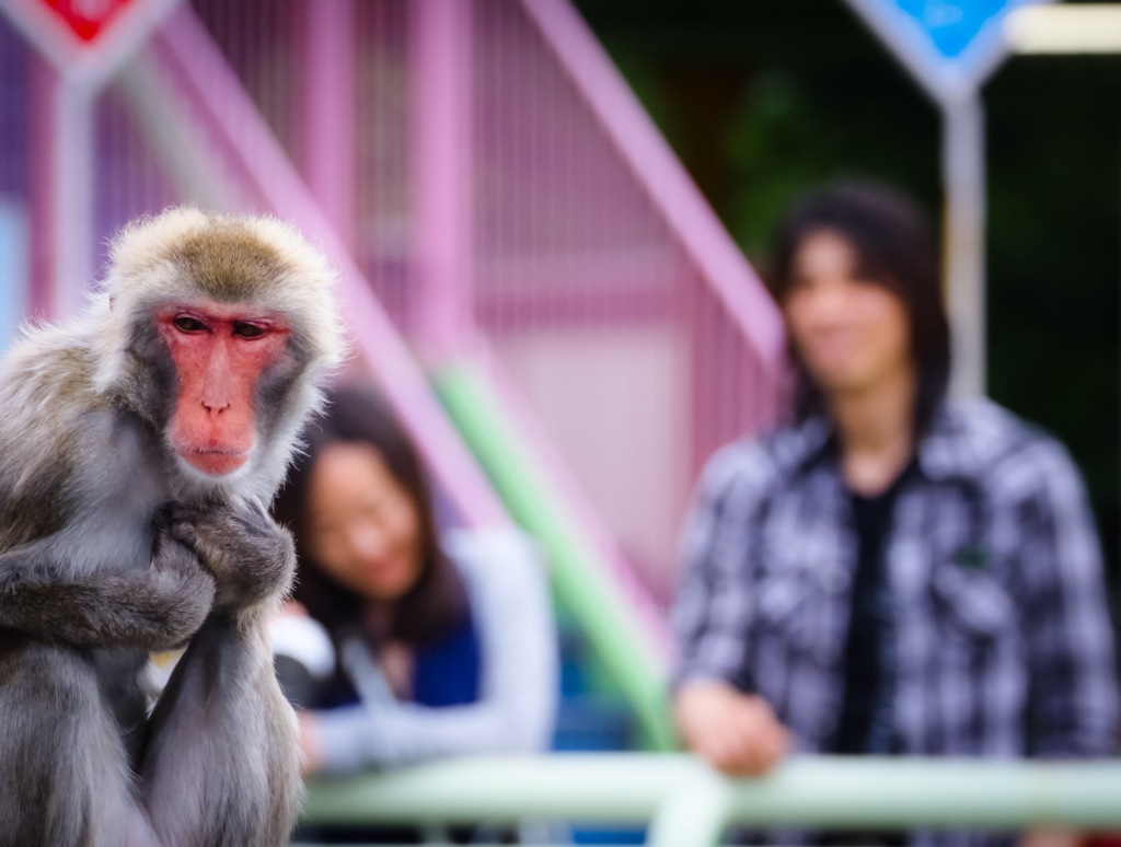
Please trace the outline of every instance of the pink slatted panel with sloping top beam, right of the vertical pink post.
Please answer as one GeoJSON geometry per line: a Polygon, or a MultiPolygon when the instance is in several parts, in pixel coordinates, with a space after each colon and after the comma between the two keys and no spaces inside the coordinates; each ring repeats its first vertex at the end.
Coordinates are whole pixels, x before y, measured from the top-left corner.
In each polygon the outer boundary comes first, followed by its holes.
{"type": "Polygon", "coordinates": [[[571,4],[475,12],[475,315],[665,602],[701,465],[776,415],[779,317],[571,4]]]}

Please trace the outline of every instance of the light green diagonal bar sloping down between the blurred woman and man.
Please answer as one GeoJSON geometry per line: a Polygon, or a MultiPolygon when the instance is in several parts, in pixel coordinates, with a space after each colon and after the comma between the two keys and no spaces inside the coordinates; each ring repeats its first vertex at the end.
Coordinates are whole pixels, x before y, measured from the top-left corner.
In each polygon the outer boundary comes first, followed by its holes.
{"type": "Polygon", "coordinates": [[[469,363],[441,369],[434,383],[515,521],[545,548],[559,601],[634,709],[645,746],[673,750],[664,662],[501,398],[483,371],[469,363]]]}

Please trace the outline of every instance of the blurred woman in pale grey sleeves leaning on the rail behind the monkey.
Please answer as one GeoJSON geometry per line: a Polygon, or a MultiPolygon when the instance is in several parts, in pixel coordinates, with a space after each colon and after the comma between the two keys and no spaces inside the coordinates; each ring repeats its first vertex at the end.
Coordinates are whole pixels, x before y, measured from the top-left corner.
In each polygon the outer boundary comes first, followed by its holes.
{"type": "Polygon", "coordinates": [[[322,625],[336,657],[291,695],[306,769],[546,750],[557,662],[532,546],[441,533],[419,457],[373,393],[336,391],[305,439],[274,511],[299,557],[289,615],[322,625]]]}

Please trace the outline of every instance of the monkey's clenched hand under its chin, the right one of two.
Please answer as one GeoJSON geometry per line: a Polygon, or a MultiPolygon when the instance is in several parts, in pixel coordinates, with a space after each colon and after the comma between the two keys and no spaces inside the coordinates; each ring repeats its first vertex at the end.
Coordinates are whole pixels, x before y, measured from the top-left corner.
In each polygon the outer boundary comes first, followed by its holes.
{"type": "Polygon", "coordinates": [[[270,612],[291,586],[291,536],[257,503],[176,504],[172,534],[214,577],[214,611],[235,617],[270,612]]]}

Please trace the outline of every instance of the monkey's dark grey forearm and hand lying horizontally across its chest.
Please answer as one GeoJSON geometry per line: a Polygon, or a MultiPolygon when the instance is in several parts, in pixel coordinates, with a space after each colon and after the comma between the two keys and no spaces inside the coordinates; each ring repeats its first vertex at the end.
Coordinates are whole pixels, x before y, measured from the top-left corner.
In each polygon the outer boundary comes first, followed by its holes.
{"type": "MultiPolygon", "coordinates": [[[[63,531],[65,533],[65,530],[63,531]]],[[[76,567],[65,534],[0,553],[0,627],[81,646],[167,650],[198,630],[214,580],[157,522],[147,568],[76,567]]]]}

